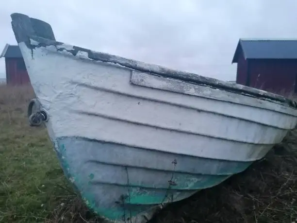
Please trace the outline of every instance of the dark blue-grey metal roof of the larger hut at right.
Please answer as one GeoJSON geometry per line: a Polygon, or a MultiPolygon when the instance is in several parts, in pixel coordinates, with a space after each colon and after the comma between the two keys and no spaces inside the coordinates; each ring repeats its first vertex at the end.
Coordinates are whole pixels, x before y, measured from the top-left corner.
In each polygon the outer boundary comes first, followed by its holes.
{"type": "Polygon", "coordinates": [[[237,63],[240,48],[245,59],[297,59],[297,40],[240,39],[232,63],[237,63]]]}

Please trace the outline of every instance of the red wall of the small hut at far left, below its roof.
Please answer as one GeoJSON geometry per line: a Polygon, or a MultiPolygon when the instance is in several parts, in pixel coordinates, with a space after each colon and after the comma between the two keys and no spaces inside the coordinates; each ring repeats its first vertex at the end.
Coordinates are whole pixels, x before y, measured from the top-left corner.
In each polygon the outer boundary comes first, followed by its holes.
{"type": "Polygon", "coordinates": [[[23,58],[5,58],[7,85],[27,85],[29,75],[23,58]]]}

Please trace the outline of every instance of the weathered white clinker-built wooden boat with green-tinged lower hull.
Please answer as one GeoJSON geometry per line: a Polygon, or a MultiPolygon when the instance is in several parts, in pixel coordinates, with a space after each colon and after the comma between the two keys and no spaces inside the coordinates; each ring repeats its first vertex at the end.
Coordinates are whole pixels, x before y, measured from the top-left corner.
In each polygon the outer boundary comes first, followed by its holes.
{"type": "Polygon", "coordinates": [[[30,123],[46,124],[67,178],[112,222],[146,222],[244,171],[297,124],[280,95],[57,42],[48,23],[11,17],[37,96],[30,123]]]}

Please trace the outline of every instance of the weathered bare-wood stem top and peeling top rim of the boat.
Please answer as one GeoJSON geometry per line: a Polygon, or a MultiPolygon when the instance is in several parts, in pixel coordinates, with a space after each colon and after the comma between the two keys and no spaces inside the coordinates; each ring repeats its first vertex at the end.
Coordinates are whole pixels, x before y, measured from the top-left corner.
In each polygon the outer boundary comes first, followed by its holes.
{"type": "Polygon", "coordinates": [[[214,78],[204,77],[198,74],[168,69],[159,65],[148,64],[136,60],[131,60],[116,55],[111,55],[103,52],[91,51],[81,47],[66,45],[63,42],[57,42],[49,23],[42,20],[28,17],[20,13],[11,14],[12,28],[16,36],[17,43],[24,42],[29,49],[46,46],[64,45],[59,47],[58,51],[64,51],[76,56],[79,51],[85,52],[85,55],[90,60],[102,61],[105,63],[117,64],[129,69],[134,69],[141,72],[147,72],[153,75],[160,75],[167,78],[178,79],[181,81],[191,82],[199,85],[210,86],[234,93],[245,94],[249,97],[257,97],[263,100],[281,102],[285,106],[297,108],[297,102],[285,98],[281,95],[259,90],[256,88],[242,86],[230,82],[217,80],[214,78]],[[37,45],[31,43],[30,39],[38,42],[37,45]]]}

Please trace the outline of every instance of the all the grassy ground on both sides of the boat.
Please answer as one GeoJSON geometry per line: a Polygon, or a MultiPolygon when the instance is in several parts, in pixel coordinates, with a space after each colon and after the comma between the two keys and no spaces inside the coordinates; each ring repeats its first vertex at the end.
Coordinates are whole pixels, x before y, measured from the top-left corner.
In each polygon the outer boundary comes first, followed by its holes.
{"type": "MultiPolygon", "coordinates": [[[[66,181],[44,128],[26,118],[31,87],[0,86],[0,222],[100,222],[66,181]]],[[[151,223],[292,223],[297,131],[247,171],[169,205],[151,223]]]]}

